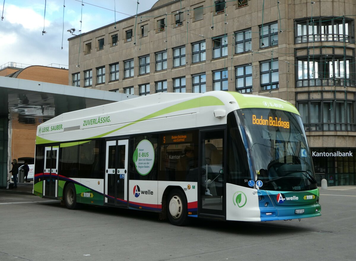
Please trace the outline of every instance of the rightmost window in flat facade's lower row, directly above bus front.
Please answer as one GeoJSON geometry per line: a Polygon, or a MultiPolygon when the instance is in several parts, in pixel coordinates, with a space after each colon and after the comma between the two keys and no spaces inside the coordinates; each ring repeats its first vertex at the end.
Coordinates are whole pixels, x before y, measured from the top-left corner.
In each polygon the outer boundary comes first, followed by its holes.
{"type": "Polygon", "coordinates": [[[278,60],[261,62],[261,90],[271,90],[278,88],[278,60]]]}

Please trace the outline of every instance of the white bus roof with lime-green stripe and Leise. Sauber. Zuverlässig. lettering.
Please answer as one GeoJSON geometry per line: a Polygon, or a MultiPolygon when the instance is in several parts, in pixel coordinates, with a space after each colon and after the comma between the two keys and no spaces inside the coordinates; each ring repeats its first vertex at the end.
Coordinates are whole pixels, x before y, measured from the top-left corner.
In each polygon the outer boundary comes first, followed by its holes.
{"type": "Polygon", "coordinates": [[[289,102],[237,92],[156,93],[63,113],[37,127],[36,144],[189,129],[226,124],[243,108],[269,108],[298,114],[289,102]]]}

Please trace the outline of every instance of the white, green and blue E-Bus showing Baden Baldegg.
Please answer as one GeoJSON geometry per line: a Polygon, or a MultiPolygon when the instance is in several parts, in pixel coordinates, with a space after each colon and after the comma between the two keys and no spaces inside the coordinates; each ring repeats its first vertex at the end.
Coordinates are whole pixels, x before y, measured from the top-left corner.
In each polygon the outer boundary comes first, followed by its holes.
{"type": "Polygon", "coordinates": [[[236,92],[157,93],[64,113],[37,128],[35,195],[188,217],[320,216],[297,109],[236,92]]]}

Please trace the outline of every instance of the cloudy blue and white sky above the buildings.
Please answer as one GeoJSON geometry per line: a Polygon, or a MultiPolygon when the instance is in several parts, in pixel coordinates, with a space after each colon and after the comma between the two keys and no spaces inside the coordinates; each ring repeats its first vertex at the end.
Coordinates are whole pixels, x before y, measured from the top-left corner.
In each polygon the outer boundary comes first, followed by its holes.
{"type": "MultiPolygon", "coordinates": [[[[0,66],[8,62],[27,65],[68,65],[67,32],[77,34],[136,15],[137,0],[5,0],[0,1],[0,66]],[[46,15],[45,15],[46,3],[46,15]],[[4,9],[2,9],[4,4],[4,9]],[[63,30],[63,4],[64,30],[63,30]],[[45,19],[44,19],[45,18],[45,19]],[[47,33],[42,35],[43,27],[47,33]],[[64,31],[64,32],[63,32],[64,31]],[[63,45],[62,45],[63,36],[63,45]],[[63,46],[63,49],[62,49],[63,46]]],[[[139,0],[138,13],[156,0],[139,0]]]]}

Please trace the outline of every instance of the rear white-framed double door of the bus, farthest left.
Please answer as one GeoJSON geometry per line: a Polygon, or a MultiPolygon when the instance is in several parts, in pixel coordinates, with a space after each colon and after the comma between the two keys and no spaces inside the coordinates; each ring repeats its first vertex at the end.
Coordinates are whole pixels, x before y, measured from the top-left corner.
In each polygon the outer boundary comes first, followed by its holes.
{"type": "Polygon", "coordinates": [[[57,197],[59,146],[45,147],[43,170],[43,196],[57,197]]]}

